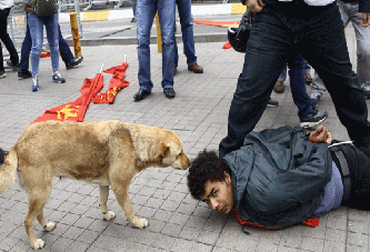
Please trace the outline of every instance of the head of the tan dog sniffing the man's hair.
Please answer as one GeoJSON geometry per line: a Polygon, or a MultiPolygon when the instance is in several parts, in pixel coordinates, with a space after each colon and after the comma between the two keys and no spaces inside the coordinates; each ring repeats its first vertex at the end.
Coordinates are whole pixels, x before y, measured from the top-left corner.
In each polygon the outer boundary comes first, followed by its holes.
{"type": "Polygon", "coordinates": [[[171,131],[168,131],[164,139],[159,143],[156,155],[161,158],[162,167],[186,170],[190,165],[190,160],[183,153],[179,138],[171,131]]]}

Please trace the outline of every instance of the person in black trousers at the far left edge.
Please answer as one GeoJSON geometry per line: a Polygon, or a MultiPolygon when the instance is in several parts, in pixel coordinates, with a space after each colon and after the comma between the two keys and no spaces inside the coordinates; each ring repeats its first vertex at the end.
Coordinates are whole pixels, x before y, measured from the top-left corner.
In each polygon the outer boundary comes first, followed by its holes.
{"type": "MultiPolygon", "coordinates": [[[[10,13],[10,9],[13,6],[13,0],[2,0],[0,1],[0,39],[3,42],[3,44],[6,46],[7,50],[10,53],[10,67],[12,67],[13,69],[18,68],[18,63],[19,63],[19,57],[18,57],[18,52],[17,49],[13,44],[13,41],[11,41],[9,34],[8,34],[8,16],[10,13]]],[[[1,43],[0,43],[0,79],[4,78],[6,74],[6,70],[3,68],[3,56],[2,56],[2,48],[1,48],[1,43]]]]}

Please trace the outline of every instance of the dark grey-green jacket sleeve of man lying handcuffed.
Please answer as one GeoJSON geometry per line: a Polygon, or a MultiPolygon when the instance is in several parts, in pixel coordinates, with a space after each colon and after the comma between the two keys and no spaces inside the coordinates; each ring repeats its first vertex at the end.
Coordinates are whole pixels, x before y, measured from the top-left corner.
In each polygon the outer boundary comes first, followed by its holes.
{"type": "Polygon", "coordinates": [[[327,143],[306,141],[294,148],[290,169],[280,169],[266,193],[256,199],[259,211],[266,216],[289,212],[309,202],[320,195],[331,180],[332,163],[327,143]]]}

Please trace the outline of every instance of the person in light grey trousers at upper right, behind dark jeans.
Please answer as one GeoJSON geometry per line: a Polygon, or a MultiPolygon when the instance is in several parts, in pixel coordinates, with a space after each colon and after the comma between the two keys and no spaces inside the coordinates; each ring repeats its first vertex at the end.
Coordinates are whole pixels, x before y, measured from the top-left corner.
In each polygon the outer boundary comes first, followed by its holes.
{"type": "MultiPolygon", "coordinates": [[[[370,3],[366,0],[338,0],[341,19],[344,27],[352,22],[357,40],[357,75],[363,89],[364,97],[370,99],[370,29],[362,26],[363,12],[369,12],[370,3]]],[[[316,73],[311,84],[312,104],[318,104],[321,95],[327,91],[324,83],[316,73]]]]}

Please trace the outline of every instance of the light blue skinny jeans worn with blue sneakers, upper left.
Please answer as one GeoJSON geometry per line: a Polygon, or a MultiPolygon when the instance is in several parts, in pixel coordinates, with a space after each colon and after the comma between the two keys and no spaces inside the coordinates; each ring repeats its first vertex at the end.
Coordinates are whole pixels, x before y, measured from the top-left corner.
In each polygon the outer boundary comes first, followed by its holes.
{"type": "Polygon", "coordinates": [[[59,34],[58,13],[50,17],[38,17],[28,13],[28,26],[32,38],[31,64],[32,77],[39,75],[39,63],[43,42],[43,26],[47,28],[47,38],[50,47],[52,71],[59,70],[59,34]]]}

